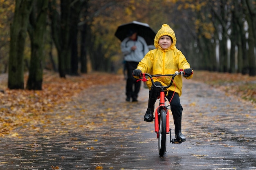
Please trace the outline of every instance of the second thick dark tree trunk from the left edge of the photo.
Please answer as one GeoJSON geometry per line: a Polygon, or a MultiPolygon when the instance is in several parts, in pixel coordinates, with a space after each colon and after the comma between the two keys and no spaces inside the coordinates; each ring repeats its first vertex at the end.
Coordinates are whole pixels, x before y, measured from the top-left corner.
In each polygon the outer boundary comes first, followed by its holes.
{"type": "Polygon", "coordinates": [[[29,35],[31,40],[31,59],[27,89],[42,90],[43,82],[43,44],[46,29],[48,0],[36,0],[30,14],[29,35]]]}

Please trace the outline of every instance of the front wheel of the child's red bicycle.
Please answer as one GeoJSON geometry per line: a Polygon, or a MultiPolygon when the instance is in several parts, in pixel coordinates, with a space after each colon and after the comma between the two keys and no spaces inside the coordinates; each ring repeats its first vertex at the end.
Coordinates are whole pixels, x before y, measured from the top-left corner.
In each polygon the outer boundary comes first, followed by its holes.
{"type": "Polygon", "coordinates": [[[160,110],[159,116],[159,138],[158,138],[158,152],[159,156],[162,157],[166,151],[166,110],[160,110]]]}

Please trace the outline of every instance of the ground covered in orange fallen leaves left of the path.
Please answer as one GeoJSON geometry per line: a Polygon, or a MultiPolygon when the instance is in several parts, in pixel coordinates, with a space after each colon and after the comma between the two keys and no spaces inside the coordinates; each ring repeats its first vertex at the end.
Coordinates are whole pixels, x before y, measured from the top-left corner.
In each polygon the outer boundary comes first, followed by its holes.
{"type": "MultiPolygon", "coordinates": [[[[43,121],[43,113],[65,108],[72,97],[89,86],[117,82],[123,77],[105,73],[84,74],[60,78],[57,73],[44,73],[42,91],[9,90],[7,76],[0,80],[0,136],[15,135],[12,130],[31,126],[33,122],[43,121]]],[[[26,82],[26,80],[25,80],[26,82]]],[[[89,97],[89,96],[87,96],[89,97]]],[[[49,118],[49,117],[48,117],[49,118]]]]}

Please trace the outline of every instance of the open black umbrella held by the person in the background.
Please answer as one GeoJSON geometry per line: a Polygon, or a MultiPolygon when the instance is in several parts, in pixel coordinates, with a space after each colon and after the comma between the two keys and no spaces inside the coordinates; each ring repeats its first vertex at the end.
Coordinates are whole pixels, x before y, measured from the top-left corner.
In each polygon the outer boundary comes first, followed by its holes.
{"type": "Polygon", "coordinates": [[[115,36],[123,41],[127,37],[127,32],[130,29],[137,30],[137,35],[143,37],[148,45],[154,44],[155,31],[150,26],[143,22],[132,21],[118,26],[115,36]]]}

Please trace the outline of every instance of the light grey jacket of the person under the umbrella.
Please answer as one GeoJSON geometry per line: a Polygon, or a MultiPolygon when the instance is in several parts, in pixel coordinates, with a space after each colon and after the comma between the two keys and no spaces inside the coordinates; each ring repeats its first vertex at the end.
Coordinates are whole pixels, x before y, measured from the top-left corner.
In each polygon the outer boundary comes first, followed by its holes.
{"type": "Polygon", "coordinates": [[[148,53],[148,45],[144,38],[137,36],[137,40],[130,40],[128,37],[121,42],[121,51],[124,54],[124,60],[128,62],[140,62],[148,53]],[[131,50],[132,46],[137,46],[135,51],[131,50]]]}

